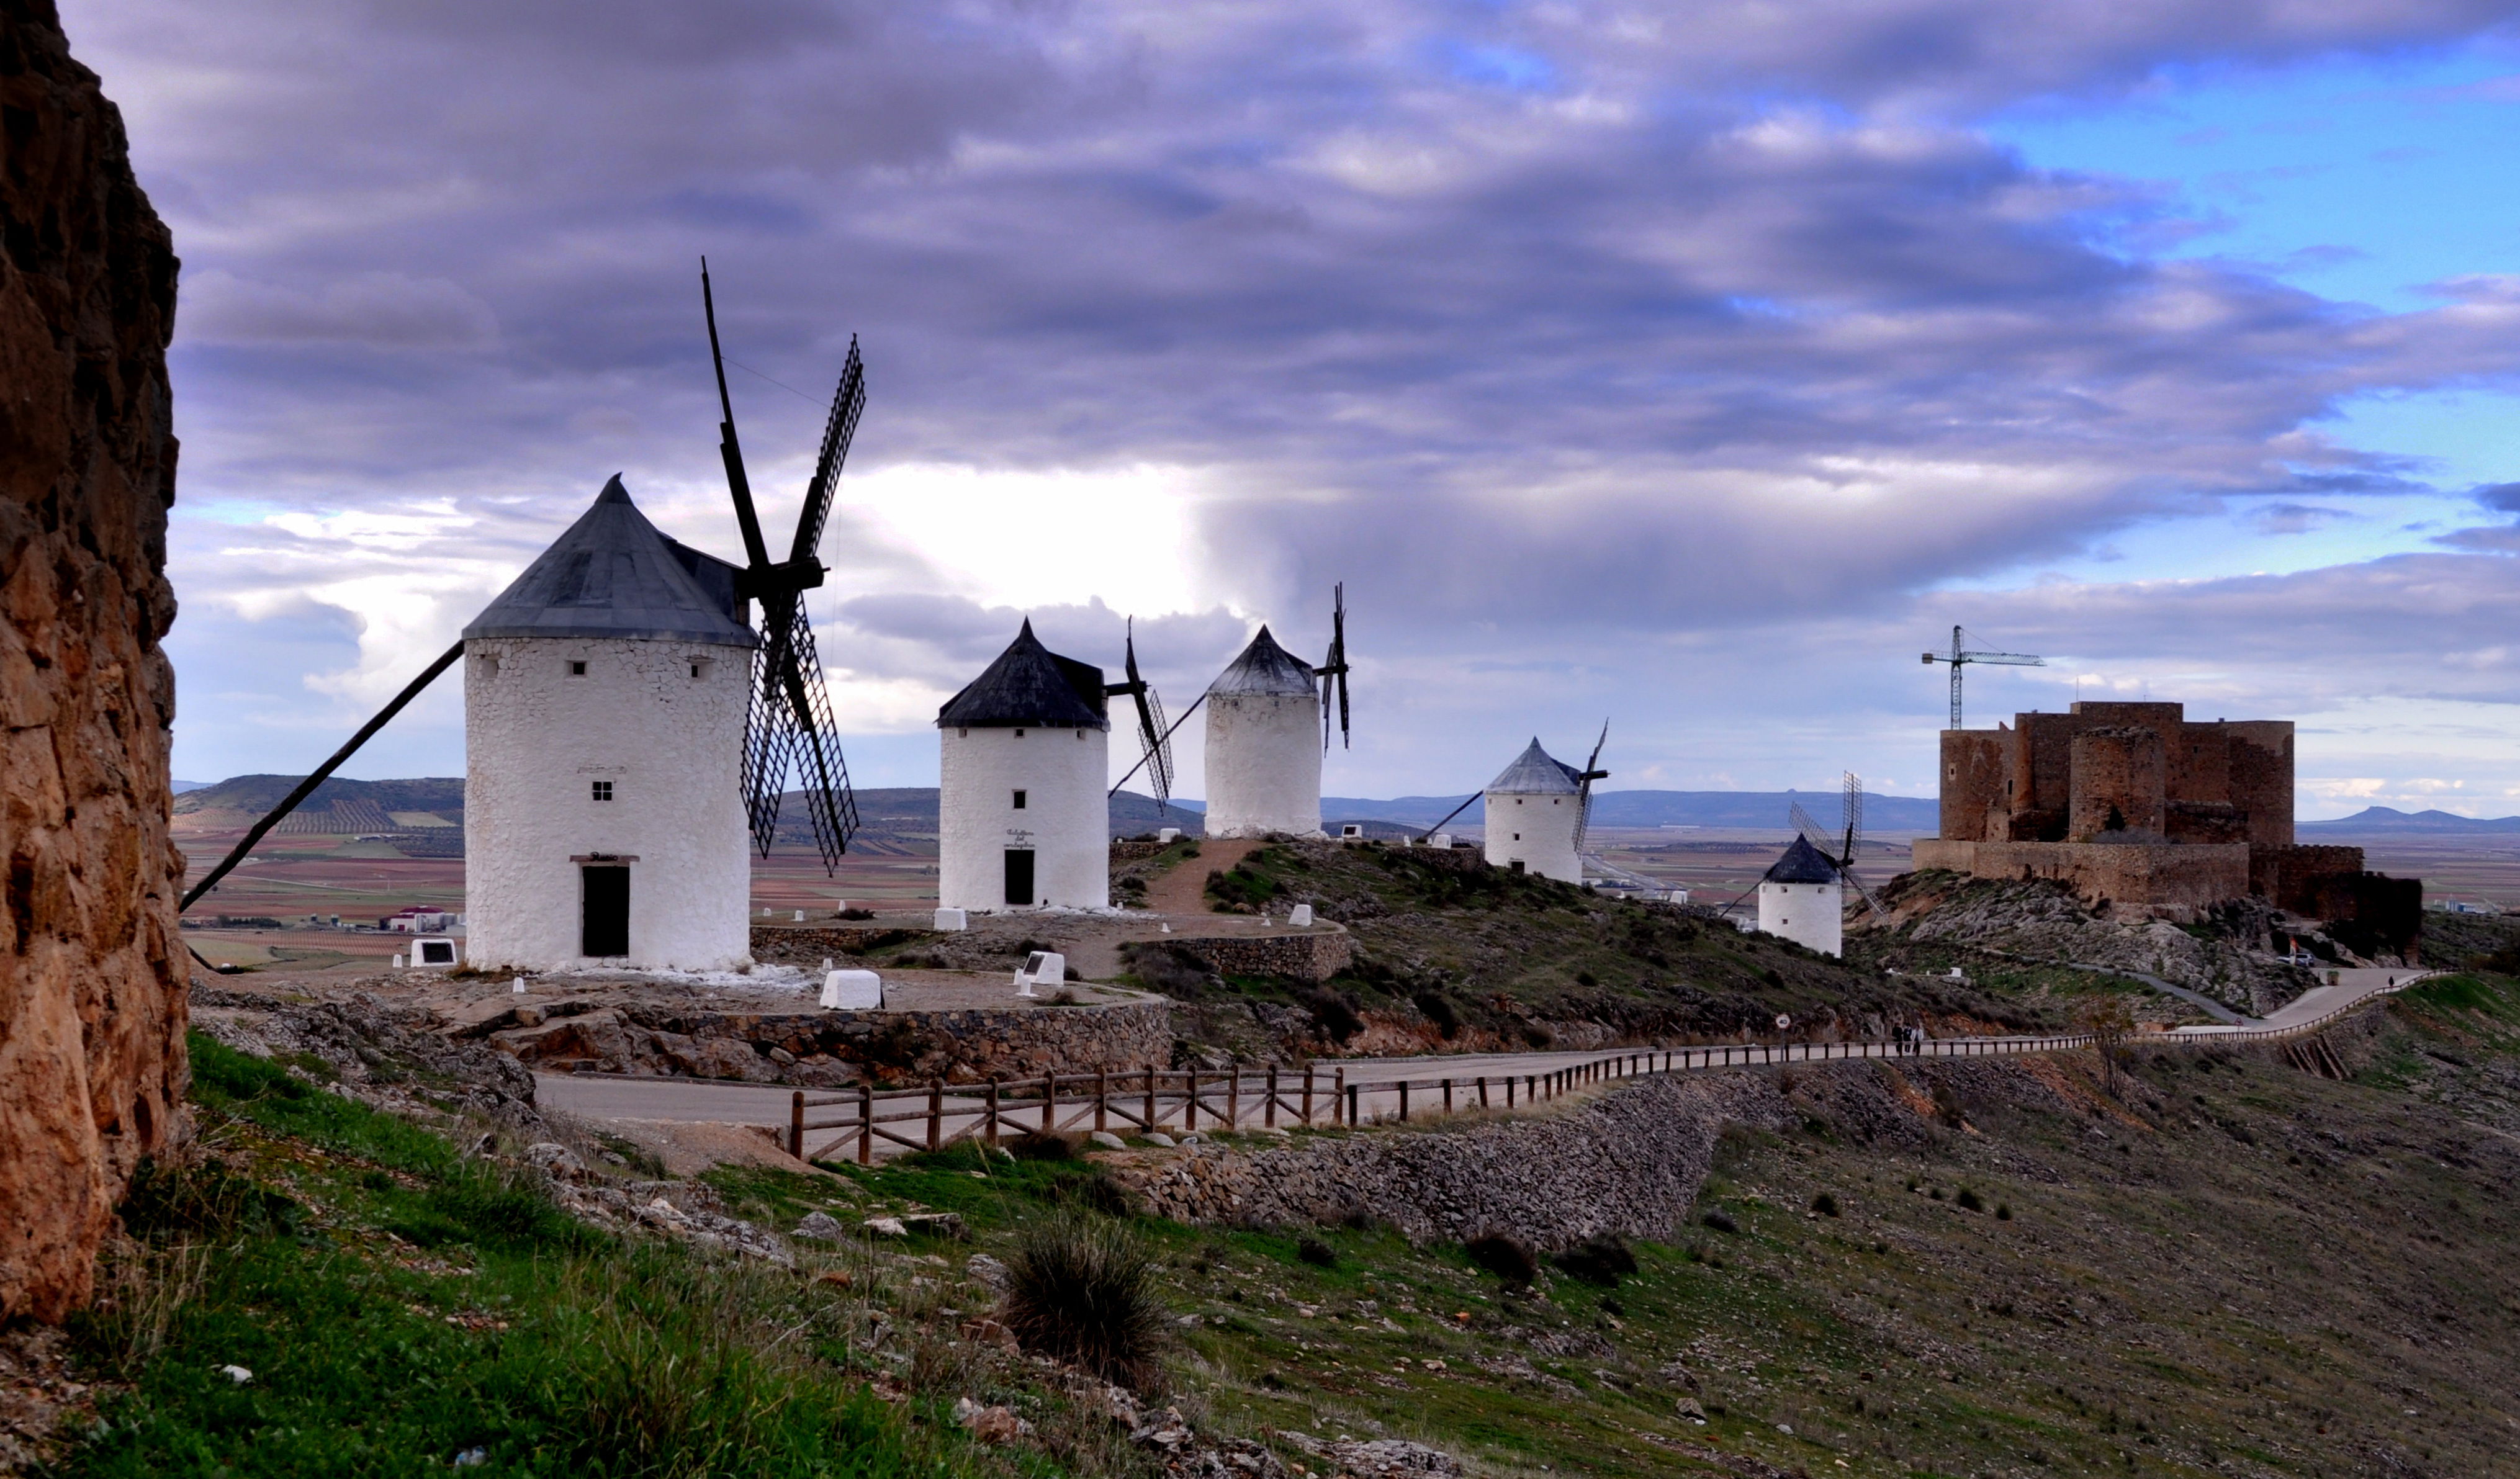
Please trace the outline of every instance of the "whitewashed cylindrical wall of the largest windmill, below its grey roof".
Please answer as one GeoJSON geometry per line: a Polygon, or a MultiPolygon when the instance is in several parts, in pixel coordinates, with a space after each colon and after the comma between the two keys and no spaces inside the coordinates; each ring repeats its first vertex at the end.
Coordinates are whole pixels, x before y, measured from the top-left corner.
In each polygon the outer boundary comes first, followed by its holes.
{"type": "Polygon", "coordinates": [[[638,859],[627,864],[627,965],[731,970],[751,960],[738,779],[751,658],[703,642],[464,645],[469,962],[592,965],[577,950],[572,862],[590,854],[638,859]],[[585,675],[570,663],[585,663],[585,675]],[[612,784],[610,801],[595,801],[595,781],[612,784]]]}

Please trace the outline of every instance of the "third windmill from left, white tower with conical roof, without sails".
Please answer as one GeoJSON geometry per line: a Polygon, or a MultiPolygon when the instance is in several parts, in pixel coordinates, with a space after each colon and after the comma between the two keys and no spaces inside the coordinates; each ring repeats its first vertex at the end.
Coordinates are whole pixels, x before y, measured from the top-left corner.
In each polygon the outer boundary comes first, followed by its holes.
{"type": "Polygon", "coordinates": [[[1320,837],[1313,665],[1260,627],[1207,685],[1207,837],[1320,837]]]}

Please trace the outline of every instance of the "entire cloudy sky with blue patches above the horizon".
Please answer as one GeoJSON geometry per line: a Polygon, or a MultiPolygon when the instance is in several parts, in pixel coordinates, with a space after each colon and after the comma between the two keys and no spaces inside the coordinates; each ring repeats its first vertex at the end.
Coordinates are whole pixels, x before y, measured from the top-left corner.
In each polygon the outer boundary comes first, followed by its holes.
{"type": "MultiPolygon", "coordinates": [[[[2520,5],[66,0],[184,254],[176,774],[300,771],[620,471],[859,784],[1028,612],[1174,708],[1348,585],[1338,794],[1930,794],[2076,698],[2520,811],[2520,5]]],[[[1192,726],[1194,728],[1194,726],[1192,726]]],[[[1114,746],[1126,763],[1126,743],[1114,746]]],[[[459,774],[454,680],[353,774],[459,774]]],[[[1197,743],[1184,753],[1197,796],[1197,743]]]]}

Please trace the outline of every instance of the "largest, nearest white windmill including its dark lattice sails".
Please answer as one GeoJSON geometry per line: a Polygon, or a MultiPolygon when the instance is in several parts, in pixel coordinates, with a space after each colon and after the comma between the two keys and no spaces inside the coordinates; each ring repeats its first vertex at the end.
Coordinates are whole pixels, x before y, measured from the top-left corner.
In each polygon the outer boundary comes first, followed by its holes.
{"type": "Polygon", "coordinates": [[[706,262],[701,302],[746,562],[668,539],[615,476],[464,627],[471,965],[746,965],[743,844],[751,834],[771,849],[789,776],[827,869],[857,826],[801,600],[824,580],[822,532],[867,403],[857,340],[796,537],[774,562],[736,443],[706,262]]]}

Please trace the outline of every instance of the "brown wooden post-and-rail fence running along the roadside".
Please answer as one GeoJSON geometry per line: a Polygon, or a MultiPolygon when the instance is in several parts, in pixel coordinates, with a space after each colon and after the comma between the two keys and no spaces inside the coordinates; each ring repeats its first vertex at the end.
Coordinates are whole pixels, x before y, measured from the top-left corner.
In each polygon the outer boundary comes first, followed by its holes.
{"type": "MultiPolygon", "coordinates": [[[[2356,998],[2331,1013],[2286,1028],[2233,1028],[2132,1036],[2124,1046],[2215,1048],[2271,1043],[2316,1033],[2361,1010],[2371,998],[2407,990],[2402,983],[2356,998]]],[[[842,1094],[796,1091],[789,1106],[786,1146],[799,1159],[827,1159],[844,1146],[857,1164],[874,1164],[877,1141],[905,1151],[935,1151],[963,1141],[998,1146],[1011,1134],[1111,1131],[1137,1134],[1197,1129],[1358,1126],[1386,1119],[1530,1109],[1580,1088],[1648,1073],[1698,1073],[1711,1068],[1764,1068],[1832,1063],[1842,1058],[1993,1058],[2089,1048],[2089,1033],[2006,1038],[1925,1038],[1855,1043],[1716,1043],[1706,1048],[1630,1048],[1530,1073],[1449,1073],[1429,1078],[1348,1078],[1348,1063],[1305,1068],[1109,1068],[1096,1073],[1046,1073],[1041,1078],[990,1078],[988,1083],[932,1081],[907,1088],[859,1083],[842,1094]],[[1414,1099],[1431,1096],[1431,1099],[1414,1099]],[[811,1111],[844,1111],[816,1116],[811,1111]],[[910,1134],[887,1126],[912,1126],[910,1134]],[[842,1131],[806,1154],[814,1131],[842,1131]],[[854,1144],[852,1144],[854,1141],[854,1144]]]]}

